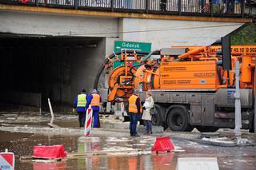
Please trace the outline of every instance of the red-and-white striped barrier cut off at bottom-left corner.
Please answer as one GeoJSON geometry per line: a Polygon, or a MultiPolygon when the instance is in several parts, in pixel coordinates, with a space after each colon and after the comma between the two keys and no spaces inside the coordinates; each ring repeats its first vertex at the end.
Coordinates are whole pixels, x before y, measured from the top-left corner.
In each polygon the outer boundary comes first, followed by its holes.
{"type": "Polygon", "coordinates": [[[15,157],[13,152],[0,152],[0,169],[14,170],[15,157]]]}

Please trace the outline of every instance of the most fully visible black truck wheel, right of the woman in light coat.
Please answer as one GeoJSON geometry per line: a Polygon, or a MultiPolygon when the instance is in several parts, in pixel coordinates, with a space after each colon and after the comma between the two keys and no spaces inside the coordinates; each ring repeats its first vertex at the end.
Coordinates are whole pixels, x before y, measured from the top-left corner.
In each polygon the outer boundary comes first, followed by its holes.
{"type": "Polygon", "coordinates": [[[171,109],[167,117],[167,124],[173,131],[191,131],[193,128],[189,124],[189,115],[184,109],[171,109]]]}

